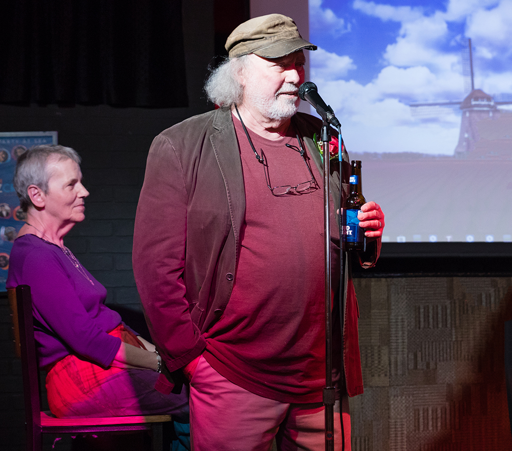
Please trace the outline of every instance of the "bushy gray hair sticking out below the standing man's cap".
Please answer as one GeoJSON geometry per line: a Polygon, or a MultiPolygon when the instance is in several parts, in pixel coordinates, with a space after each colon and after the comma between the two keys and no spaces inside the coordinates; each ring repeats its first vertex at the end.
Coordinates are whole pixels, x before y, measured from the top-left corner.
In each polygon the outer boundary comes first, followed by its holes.
{"type": "Polygon", "coordinates": [[[228,58],[211,71],[204,86],[208,100],[226,108],[242,103],[244,87],[238,77],[249,64],[248,57],[249,55],[228,58]]]}

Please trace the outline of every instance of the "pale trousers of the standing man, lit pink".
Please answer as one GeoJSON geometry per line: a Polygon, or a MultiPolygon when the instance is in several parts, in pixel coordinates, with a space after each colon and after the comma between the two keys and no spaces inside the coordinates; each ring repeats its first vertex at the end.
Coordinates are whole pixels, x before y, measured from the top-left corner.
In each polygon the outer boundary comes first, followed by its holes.
{"type": "MultiPolygon", "coordinates": [[[[348,399],[342,402],[345,448],[350,451],[348,399]]],[[[334,449],[342,450],[339,402],[334,408],[334,449]]],[[[201,357],[190,381],[193,451],[323,451],[322,403],[289,404],[255,395],[232,384],[201,357]]]]}

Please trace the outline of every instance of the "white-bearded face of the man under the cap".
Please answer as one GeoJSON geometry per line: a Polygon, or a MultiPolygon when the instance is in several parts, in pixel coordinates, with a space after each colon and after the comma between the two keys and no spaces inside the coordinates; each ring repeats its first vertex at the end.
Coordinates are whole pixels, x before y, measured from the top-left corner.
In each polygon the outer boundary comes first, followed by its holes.
{"type": "Polygon", "coordinates": [[[256,109],[265,119],[291,118],[300,103],[297,93],[304,82],[304,52],[272,59],[251,54],[249,58],[242,74],[243,105],[256,109]]]}

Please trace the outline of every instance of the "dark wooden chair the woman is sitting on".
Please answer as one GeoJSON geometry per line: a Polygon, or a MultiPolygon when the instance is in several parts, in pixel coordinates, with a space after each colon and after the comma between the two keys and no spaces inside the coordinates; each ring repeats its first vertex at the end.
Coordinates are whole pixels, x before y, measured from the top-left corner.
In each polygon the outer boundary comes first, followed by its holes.
{"type": "Polygon", "coordinates": [[[41,451],[42,434],[79,434],[122,431],[152,432],[152,449],[161,451],[163,423],[170,415],[143,415],[129,417],[56,418],[51,412],[42,412],[39,390],[39,369],[34,339],[32,296],[30,286],[18,285],[8,290],[13,312],[16,353],[22,359],[25,418],[27,423],[27,451],[41,451]]]}

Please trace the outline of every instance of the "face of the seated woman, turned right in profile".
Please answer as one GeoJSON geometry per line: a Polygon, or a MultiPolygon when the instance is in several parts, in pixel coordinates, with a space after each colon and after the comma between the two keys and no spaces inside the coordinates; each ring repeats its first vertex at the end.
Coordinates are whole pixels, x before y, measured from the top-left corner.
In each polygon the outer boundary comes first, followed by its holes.
{"type": "Polygon", "coordinates": [[[52,158],[47,164],[50,174],[48,193],[45,196],[45,211],[60,222],[81,222],[85,219],[84,199],[89,191],[82,185],[82,173],[76,162],[67,158],[52,158]]]}

